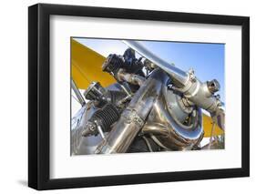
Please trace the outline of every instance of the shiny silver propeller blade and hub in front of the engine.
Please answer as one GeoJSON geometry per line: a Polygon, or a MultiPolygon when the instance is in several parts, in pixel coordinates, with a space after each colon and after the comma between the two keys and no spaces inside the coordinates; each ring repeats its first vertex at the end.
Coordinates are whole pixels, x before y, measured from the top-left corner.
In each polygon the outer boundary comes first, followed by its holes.
{"type": "MultiPolygon", "coordinates": [[[[213,93],[220,88],[220,84],[218,82],[213,81],[215,84],[214,88],[210,88],[209,90],[209,87],[207,87],[208,89],[206,90],[205,86],[207,86],[207,84],[200,82],[200,79],[195,76],[193,69],[190,69],[189,72],[186,73],[178,67],[170,65],[163,59],[159,58],[159,56],[151,53],[138,41],[124,40],[123,42],[137,51],[141,56],[146,57],[149,61],[164,70],[171,78],[173,88],[184,94],[191,103],[204,108],[211,114],[219,111],[221,106],[220,99],[213,96],[213,93]]],[[[220,128],[223,128],[223,125],[221,125],[220,128]]]]}

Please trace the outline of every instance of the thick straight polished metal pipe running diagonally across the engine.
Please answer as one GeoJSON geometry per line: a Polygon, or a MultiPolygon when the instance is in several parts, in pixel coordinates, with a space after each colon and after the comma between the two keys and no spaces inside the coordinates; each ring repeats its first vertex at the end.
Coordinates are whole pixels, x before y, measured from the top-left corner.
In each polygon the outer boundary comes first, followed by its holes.
{"type": "Polygon", "coordinates": [[[164,74],[160,69],[152,72],[143,85],[139,87],[117,124],[108,133],[106,139],[102,140],[97,146],[95,153],[127,152],[133,139],[143,127],[156,98],[160,94],[164,74]]]}

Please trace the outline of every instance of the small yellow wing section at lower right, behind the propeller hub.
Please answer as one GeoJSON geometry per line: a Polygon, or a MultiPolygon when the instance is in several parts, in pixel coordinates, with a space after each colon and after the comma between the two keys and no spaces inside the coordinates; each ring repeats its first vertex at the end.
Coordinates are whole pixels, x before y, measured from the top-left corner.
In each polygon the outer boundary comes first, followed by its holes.
{"type": "MultiPolygon", "coordinates": [[[[210,138],[210,132],[212,128],[212,119],[211,117],[203,114],[203,129],[204,129],[204,138],[210,138]]],[[[219,136],[223,134],[223,130],[219,128],[218,125],[215,125],[215,129],[213,131],[213,136],[219,136]]]]}

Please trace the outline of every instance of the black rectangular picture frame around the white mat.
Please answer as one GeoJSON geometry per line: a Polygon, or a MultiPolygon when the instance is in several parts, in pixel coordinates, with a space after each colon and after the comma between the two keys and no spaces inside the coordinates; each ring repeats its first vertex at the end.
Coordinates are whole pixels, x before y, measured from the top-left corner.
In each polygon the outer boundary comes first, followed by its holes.
{"type": "Polygon", "coordinates": [[[28,186],[68,189],[180,180],[224,179],[250,176],[250,18],[202,15],[78,5],[37,4],[28,7],[28,186]],[[50,15],[73,15],[132,20],[241,26],[242,123],[241,168],[132,174],[72,179],[50,179],[49,20],[50,15]]]}

